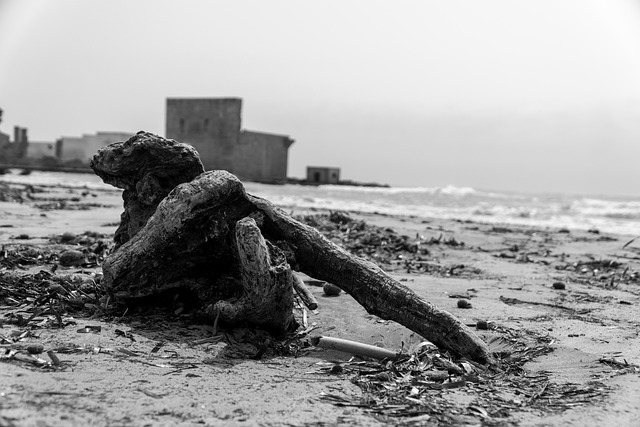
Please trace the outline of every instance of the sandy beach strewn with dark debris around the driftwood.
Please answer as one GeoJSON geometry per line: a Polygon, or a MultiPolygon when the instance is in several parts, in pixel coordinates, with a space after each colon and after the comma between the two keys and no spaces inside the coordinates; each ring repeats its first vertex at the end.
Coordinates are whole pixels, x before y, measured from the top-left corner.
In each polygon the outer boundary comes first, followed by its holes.
{"type": "MultiPolygon", "coordinates": [[[[214,335],[180,307],[114,315],[80,297],[99,287],[120,191],[11,184],[0,201],[0,426],[640,424],[635,236],[349,212],[367,236],[405,244],[383,248],[330,224],[328,212],[283,208],[315,216],[331,240],[522,363],[490,376],[470,366],[461,381],[429,388],[321,348],[255,357],[264,334],[214,335]],[[61,265],[68,251],[84,251],[83,262],[61,265]],[[41,281],[75,275],[86,285],[72,288],[77,311],[35,312],[36,294],[16,296],[7,277],[40,271],[41,281]]],[[[319,309],[306,313],[307,335],[407,354],[423,341],[345,293],[310,289],[319,309]]]]}

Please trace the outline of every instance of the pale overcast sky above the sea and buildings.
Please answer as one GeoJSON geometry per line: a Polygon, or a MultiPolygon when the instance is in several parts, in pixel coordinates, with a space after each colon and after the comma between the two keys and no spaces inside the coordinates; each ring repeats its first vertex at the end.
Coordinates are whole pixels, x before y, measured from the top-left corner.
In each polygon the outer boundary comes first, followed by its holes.
{"type": "Polygon", "coordinates": [[[0,129],[241,97],[289,175],[640,196],[640,0],[0,0],[0,129]]]}

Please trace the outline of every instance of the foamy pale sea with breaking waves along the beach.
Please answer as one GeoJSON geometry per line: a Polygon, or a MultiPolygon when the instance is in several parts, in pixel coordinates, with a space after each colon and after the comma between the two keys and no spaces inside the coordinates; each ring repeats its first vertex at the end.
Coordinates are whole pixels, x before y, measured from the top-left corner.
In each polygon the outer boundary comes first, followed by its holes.
{"type": "MultiPolygon", "coordinates": [[[[115,190],[89,173],[19,172],[0,175],[0,182],[115,190]]],[[[513,193],[456,186],[244,185],[248,193],[293,213],[315,208],[640,235],[640,197],[513,193]]]]}

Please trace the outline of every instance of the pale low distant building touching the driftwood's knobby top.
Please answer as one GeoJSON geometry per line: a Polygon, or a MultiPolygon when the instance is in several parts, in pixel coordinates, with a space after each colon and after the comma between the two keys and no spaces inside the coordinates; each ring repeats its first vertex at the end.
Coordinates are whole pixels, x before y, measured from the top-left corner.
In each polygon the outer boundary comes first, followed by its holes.
{"type": "Polygon", "coordinates": [[[98,132],[82,136],[63,136],[56,141],[55,156],[63,163],[88,166],[91,157],[102,147],[126,141],[133,136],[127,132],[98,132]]]}

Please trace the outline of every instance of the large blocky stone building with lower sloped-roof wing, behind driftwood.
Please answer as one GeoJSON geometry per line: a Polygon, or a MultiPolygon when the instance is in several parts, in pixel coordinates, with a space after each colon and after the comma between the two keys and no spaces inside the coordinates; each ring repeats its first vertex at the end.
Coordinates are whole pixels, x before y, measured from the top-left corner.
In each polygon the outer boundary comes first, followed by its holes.
{"type": "Polygon", "coordinates": [[[287,179],[286,135],[242,129],[240,98],[168,98],[166,137],[192,145],[206,170],[222,169],[242,180],[287,179]]]}

